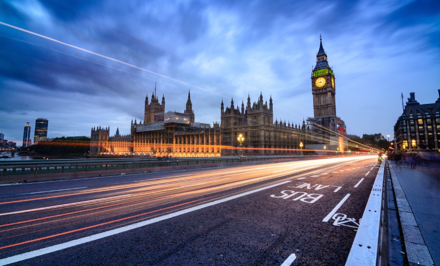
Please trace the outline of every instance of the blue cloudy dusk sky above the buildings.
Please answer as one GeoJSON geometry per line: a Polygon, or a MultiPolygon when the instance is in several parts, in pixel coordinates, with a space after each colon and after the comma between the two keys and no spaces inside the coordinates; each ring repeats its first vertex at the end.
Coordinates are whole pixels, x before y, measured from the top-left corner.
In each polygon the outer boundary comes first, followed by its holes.
{"type": "Polygon", "coordinates": [[[49,138],[129,134],[155,84],[165,112],[183,112],[190,91],[196,122],[261,93],[274,120],[302,123],[320,35],[347,134],[392,139],[402,93],[439,97],[438,0],[3,0],[0,132],[21,145],[26,122],[46,118],[49,138]]]}

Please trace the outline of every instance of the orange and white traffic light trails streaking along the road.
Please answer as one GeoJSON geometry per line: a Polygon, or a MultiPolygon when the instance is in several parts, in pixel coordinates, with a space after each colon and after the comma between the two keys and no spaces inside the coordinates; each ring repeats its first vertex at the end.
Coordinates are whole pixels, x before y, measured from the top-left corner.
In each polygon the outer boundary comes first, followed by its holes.
{"type": "MultiPolygon", "coordinates": [[[[29,243],[34,243],[32,246],[42,245],[42,242],[39,242],[40,240],[48,239],[48,241],[59,241],[59,236],[71,238],[76,235],[87,235],[97,230],[117,228],[122,225],[136,223],[140,220],[151,219],[151,217],[154,216],[164,215],[164,213],[167,212],[174,213],[179,209],[185,211],[188,208],[195,208],[191,207],[191,204],[221,201],[222,198],[233,197],[237,195],[237,193],[248,193],[255,188],[260,189],[268,186],[268,184],[290,182],[293,179],[292,175],[300,177],[316,172],[322,173],[346,166],[353,162],[371,158],[376,159],[375,156],[347,157],[279,162],[264,165],[233,166],[191,174],[185,173],[167,179],[154,179],[142,182],[134,181],[131,184],[111,185],[103,188],[84,190],[81,192],[89,194],[99,193],[100,195],[102,195],[101,193],[108,194],[120,189],[128,191],[124,191],[125,196],[120,195],[114,198],[108,198],[105,202],[92,200],[16,211],[20,212],[17,213],[18,216],[11,218],[17,219],[24,217],[26,220],[3,221],[4,224],[0,225],[0,228],[4,228],[4,230],[0,232],[3,232],[3,234],[5,232],[16,232],[18,234],[9,233],[9,235],[2,238],[4,240],[8,239],[9,243],[5,242],[0,250],[4,250],[4,253],[16,252],[17,250],[11,248],[29,248],[27,245],[29,243]],[[197,200],[194,201],[194,199],[197,200]],[[70,210],[72,207],[81,209],[70,210]],[[62,209],[65,209],[65,211],[63,213],[47,213],[54,212],[55,208],[59,208],[58,211],[63,211],[62,209]],[[30,219],[29,212],[32,210],[43,211],[45,215],[38,217],[42,212],[35,212],[37,217],[30,219]],[[150,211],[146,212],[145,210],[150,211]],[[52,218],[60,219],[50,220],[52,218]],[[90,226],[84,226],[84,223],[90,226]],[[81,225],[83,226],[81,227],[81,225]],[[34,229],[32,230],[31,228],[34,229]],[[60,230],[65,230],[64,228],[71,230],[59,232],[60,230]],[[28,236],[28,239],[23,239],[23,237],[26,236],[28,236]],[[16,240],[14,241],[14,239],[16,240]]],[[[76,195],[76,193],[59,196],[62,196],[61,198],[65,198],[65,200],[69,200],[68,195],[72,196],[76,195]]],[[[20,202],[18,201],[15,204],[18,206],[20,202]]]]}

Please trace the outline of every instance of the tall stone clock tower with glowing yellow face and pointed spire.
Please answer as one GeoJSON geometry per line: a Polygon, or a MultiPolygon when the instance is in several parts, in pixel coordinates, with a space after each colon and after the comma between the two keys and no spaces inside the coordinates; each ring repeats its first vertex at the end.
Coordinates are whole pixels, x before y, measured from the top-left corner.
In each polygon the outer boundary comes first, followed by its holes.
{"type": "Polygon", "coordinates": [[[315,118],[336,116],[335,73],[328,65],[327,54],[322,48],[322,37],[312,72],[313,115],[315,118]]]}

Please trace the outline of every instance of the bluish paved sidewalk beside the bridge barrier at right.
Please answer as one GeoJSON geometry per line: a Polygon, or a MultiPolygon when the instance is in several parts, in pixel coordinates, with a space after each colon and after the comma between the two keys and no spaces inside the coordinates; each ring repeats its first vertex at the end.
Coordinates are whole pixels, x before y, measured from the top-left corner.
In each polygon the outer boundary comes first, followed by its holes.
{"type": "Polygon", "coordinates": [[[440,266],[440,176],[388,163],[410,265],[440,266]]]}

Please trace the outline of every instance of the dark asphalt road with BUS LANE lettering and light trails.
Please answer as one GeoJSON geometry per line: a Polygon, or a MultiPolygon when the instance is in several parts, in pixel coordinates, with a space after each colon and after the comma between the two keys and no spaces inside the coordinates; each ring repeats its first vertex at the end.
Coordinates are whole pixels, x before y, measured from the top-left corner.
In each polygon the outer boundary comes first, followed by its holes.
{"type": "Polygon", "coordinates": [[[0,265],[341,265],[378,166],[348,157],[0,186],[0,265]]]}

